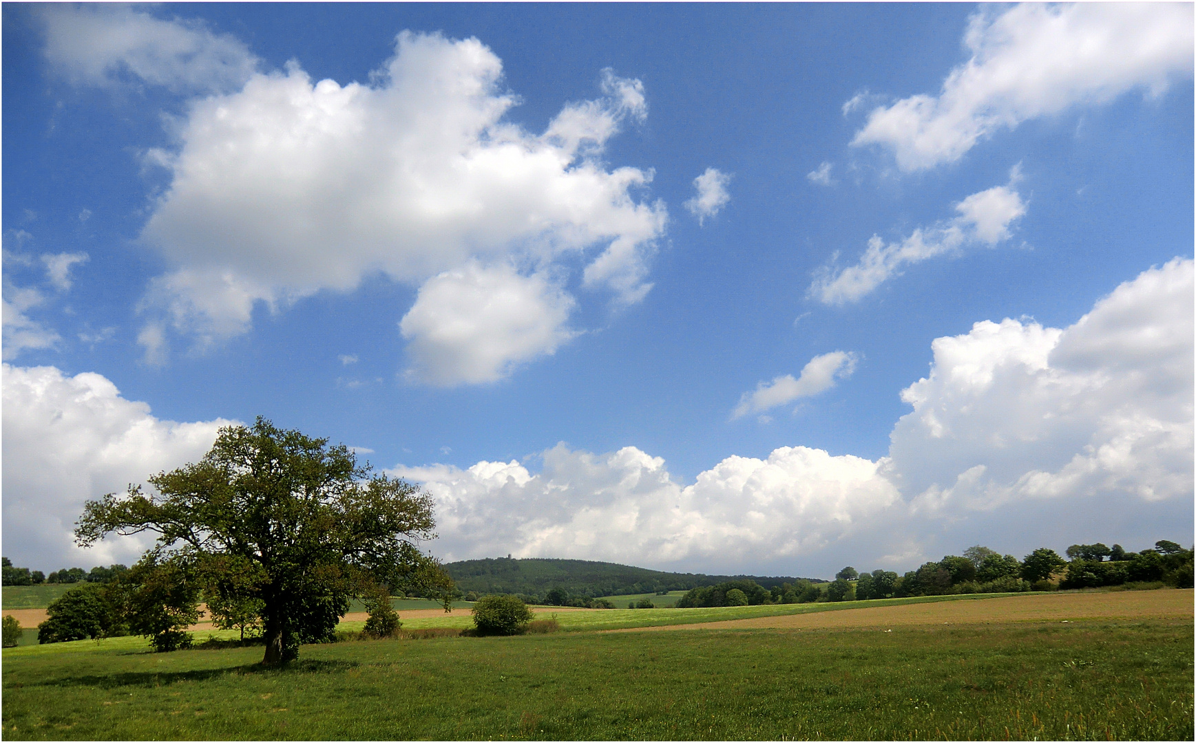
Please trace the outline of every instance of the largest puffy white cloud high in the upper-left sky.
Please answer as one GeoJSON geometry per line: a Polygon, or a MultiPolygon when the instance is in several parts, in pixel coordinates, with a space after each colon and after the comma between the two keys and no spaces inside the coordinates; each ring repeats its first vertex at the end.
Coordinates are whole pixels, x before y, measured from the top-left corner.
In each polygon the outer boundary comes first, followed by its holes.
{"type": "MultiPolygon", "coordinates": [[[[584,287],[615,305],[639,301],[666,210],[636,198],[651,172],[609,170],[598,155],[626,121],[645,116],[642,85],[605,70],[602,97],[566,105],[532,134],[505,121],[515,97],[501,78],[501,61],[477,39],[403,32],[371,85],[315,81],[292,63],[194,102],[177,152],[154,153],[171,184],[144,239],[176,269],[144,308],[159,313],[158,326],[206,343],[245,332],[260,302],[281,308],[352,290],[374,272],[432,282],[422,297],[444,285],[443,272],[474,264],[517,265],[533,283],[579,260],[584,287]]],[[[472,290],[494,287],[499,295],[483,303],[502,302],[509,283],[472,290]]],[[[452,354],[426,362],[426,349],[454,330],[422,309],[411,309],[420,323],[404,321],[416,366],[444,372],[441,383],[489,379],[468,355],[456,355],[460,368],[446,366],[452,354]]],[[[565,338],[537,337],[537,349],[527,334],[492,344],[490,369],[565,338]]]]}

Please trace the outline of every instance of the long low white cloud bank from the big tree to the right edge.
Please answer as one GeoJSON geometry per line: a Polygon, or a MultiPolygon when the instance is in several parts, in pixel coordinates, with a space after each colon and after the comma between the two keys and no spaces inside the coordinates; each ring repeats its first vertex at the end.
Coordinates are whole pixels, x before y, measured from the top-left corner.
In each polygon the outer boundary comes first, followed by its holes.
{"type": "Polygon", "coordinates": [[[634,447],[559,444],[536,474],[519,461],[395,473],[437,497],[448,558],[829,576],[848,563],[909,569],[977,542],[1024,554],[1190,540],[1191,307],[1192,262],[1176,259],[1067,328],[1007,319],[938,338],[878,461],[786,447],[730,456],[683,486],[634,447]]]}

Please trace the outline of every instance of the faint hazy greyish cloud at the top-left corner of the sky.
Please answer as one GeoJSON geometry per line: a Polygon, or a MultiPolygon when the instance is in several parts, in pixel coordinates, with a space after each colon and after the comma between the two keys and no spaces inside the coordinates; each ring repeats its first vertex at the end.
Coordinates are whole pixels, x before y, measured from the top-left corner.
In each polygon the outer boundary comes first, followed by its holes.
{"type": "Polygon", "coordinates": [[[55,4],[39,14],[47,61],[78,84],[230,90],[244,84],[258,65],[242,42],[197,22],[164,20],[109,4],[55,4]]]}

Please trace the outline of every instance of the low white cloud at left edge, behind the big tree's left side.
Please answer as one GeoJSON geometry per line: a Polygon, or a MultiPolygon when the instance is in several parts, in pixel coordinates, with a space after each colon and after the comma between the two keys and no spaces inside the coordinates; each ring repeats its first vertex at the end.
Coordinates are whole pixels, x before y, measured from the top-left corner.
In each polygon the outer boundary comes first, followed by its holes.
{"type": "Polygon", "coordinates": [[[230,424],[159,420],[99,374],[10,364],[2,415],[5,554],[43,570],[135,560],[145,540],[74,545],[84,502],[199,460],[230,424]]]}

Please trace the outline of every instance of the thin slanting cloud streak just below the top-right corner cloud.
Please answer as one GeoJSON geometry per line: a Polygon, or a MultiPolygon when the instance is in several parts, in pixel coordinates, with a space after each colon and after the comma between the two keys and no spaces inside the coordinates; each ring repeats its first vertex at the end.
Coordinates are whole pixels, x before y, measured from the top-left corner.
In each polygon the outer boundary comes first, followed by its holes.
{"type": "Polygon", "coordinates": [[[1025,202],[1013,189],[1017,180],[1018,168],[1014,167],[1009,185],[972,194],[956,204],[958,216],[929,228],[919,227],[898,242],[886,244],[879,235],[872,235],[859,263],[840,270],[823,266],[807,295],[824,305],[856,302],[892,276],[901,275],[903,266],[977,242],[996,245],[1009,237],[1012,222],[1026,213],[1025,202]]]}

